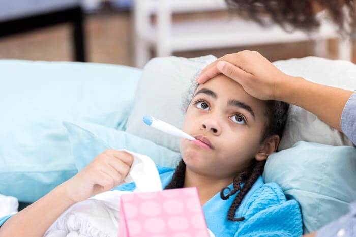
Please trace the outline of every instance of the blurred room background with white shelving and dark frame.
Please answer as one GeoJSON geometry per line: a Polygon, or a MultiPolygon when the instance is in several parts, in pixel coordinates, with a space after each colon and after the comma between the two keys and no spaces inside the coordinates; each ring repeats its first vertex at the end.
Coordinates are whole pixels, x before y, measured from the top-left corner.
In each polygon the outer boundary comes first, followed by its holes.
{"type": "Polygon", "coordinates": [[[287,33],[244,20],[224,0],[0,0],[0,58],[143,67],[155,56],[250,49],[271,61],[355,62],[353,45],[328,21],[315,34],[287,33]]]}

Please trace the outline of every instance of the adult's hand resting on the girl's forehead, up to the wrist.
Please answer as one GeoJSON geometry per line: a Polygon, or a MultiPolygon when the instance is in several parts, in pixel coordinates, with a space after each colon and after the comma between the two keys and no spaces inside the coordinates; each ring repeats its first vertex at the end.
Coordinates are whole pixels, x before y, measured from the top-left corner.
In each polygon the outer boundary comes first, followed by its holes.
{"type": "Polygon", "coordinates": [[[208,65],[197,82],[205,83],[221,73],[238,82],[248,94],[260,100],[280,100],[282,82],[290,77],[260,53],[244,50],[227,54],[208,65]]]}

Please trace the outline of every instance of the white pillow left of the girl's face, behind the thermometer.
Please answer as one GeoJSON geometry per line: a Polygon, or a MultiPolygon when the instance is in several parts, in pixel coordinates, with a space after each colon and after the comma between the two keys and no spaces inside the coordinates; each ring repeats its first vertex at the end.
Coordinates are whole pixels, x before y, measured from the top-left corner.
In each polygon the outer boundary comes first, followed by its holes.
{"type": "Polygon", "coordinates": [[[147,63],[137,86],[126,131],[179,152],[179,138],[145,125],[142,118],[150,115],[182,128],[185,116],[182,110],[183,97],[197,73],[216,59],[212,55],[190,59],[164,57],[154,58],[147,63]]]}

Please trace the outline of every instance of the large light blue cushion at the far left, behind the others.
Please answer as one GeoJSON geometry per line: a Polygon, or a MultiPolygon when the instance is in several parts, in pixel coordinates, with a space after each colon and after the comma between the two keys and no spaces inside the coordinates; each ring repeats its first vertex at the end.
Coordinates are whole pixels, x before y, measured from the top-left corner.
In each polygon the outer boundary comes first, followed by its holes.
{"type": "Polygon", "coordinates": [[[34,202],[77,169],[62,121],[123,129],[141,70],[0,60],[0,193],[34,202]]]}

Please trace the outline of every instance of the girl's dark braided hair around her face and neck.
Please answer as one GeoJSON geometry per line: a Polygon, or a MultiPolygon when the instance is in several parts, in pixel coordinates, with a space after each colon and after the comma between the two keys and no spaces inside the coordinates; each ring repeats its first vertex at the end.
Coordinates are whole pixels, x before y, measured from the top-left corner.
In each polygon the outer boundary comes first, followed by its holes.
{"type": "MultiPolygon", "coordinates": [[[[190,102],[192,101],[194,92],[198,84],[193,82],[192,86],[189,88],[187,95],[185,95],[183,102],[183,109],[186,112],[190,102]]],[[[264,132],[261,140],[277,134],[280,138],[282,137],[283,130],[287,120],[287,113],[289,104],[281,101],[266,101],[265,115],[267,117],[267,123],[264,128],[264,132]]],[[[230,190],[229,187],[225,187],[220,191],[220,197],[223,200],[229,199],[230,196],[239,192],[235,199],[233,200],[229,212],[227,214],[227,219],[230,221],[243,221],[244,217],[235,218],[236,209],[239,207],[242,199],[246,193],[251,189],[252,185],[256,182],[258,177],[262,175],[264,169],[265,161],[253,160],[252,164],[244,171],[236,174],[233,179],[233,189],[230,190]],[[228,193],[226,194],[226,191],[228,193]]],[[[177,166],[171,182],[165,187],[165,189],[175,189],[184,187],[184,179],[186,172],[186,164],[183,160],[180,161],[177,166]]]]}

